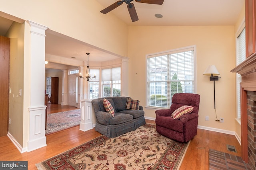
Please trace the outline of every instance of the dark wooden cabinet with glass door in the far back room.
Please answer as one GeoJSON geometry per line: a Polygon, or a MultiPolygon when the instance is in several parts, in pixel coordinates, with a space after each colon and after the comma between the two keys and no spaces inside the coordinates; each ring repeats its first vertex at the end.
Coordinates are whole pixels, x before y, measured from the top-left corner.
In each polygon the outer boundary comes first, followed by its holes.
{"type": "Polygon", "coordinates": [[[58,104],[59,78],[46,77],[46,94],[48,94],[48,103],[58,104]]]}

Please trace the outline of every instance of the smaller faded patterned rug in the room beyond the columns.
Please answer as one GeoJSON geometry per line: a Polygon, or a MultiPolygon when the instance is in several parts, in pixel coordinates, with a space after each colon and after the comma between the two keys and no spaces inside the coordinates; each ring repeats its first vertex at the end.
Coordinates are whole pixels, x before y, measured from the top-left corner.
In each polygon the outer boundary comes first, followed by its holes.
{"type": "Polygon", "coordinates": [[[80,124],[81,109],[47,114],[45,134],[49,135],[80,124]]]}

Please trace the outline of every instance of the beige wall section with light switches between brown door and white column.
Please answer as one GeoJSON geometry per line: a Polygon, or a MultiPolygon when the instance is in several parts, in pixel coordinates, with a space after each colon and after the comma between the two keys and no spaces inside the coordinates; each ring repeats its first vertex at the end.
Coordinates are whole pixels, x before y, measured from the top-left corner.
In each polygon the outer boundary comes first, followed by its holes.
{"type": "Polygon", "coordinates": [[[9,94],[9,124],[8,132],[22,144],[23,140],[23,70],[24,70],[24,24],[14,22],[6,37],[11,39],[10,48],[10,88],[9,94]],[[22,89],[22,96],[19,96],[22,89]]]}

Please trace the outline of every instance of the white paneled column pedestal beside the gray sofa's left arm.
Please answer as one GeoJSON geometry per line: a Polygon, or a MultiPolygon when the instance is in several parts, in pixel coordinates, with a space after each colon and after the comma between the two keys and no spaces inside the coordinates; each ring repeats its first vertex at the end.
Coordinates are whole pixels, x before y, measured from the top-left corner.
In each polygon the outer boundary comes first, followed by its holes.
{"type": "Polygon", "coordinates": [[[92,129],[92,100],[80,100],[81,103],[81,131],[88,131],[92,129]]]}

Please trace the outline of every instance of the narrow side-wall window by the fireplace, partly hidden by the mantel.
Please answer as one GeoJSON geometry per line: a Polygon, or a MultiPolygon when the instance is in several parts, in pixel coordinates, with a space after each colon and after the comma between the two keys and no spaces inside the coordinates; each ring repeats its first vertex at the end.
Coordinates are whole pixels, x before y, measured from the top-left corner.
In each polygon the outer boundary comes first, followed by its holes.
{"type": "MultiPolygon", "coordinates": [[[[242,63],[245,58],[245,28],[242,29],[238,37],[236,38],[236,66],[242,63]]],[[[241,107],[240,107],[240,82],[242,77],[240,74],[236,73],[236,113],[237,118],[241,119],[241,107]]]]}

